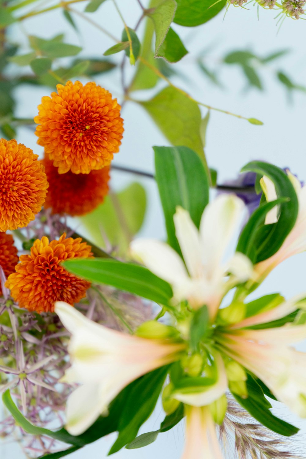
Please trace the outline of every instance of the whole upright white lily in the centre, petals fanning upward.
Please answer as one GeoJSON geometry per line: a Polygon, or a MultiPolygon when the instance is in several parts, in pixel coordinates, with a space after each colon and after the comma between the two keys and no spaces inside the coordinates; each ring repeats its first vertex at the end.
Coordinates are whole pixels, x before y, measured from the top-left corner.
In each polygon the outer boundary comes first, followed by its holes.
{"type": "Polygon", "coordinates": [[[220,195],[206,206],[199,231],[189,213],[177,207],[173,218],[185,264],[177,252],[160,241],[135,240],[131,253],[172,285],[173,301],[188,300],[195,309],[206,304],[213,318],[229,286],[248,280],[253,272],[249,258],[242,253],[235,253],[223,264],[243,211],[244,204],[237,196],[220,195]]]}

